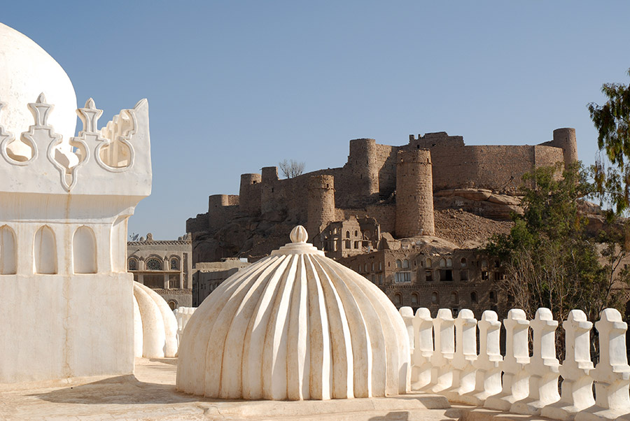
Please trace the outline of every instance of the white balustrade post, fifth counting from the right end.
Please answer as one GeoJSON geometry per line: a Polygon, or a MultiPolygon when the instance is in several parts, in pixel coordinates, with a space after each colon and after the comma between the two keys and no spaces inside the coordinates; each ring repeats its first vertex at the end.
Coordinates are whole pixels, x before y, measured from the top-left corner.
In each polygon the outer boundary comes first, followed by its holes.
{"type": "Polygon", "coordinates": [[[501,322],[491,310],[482,314],[479,327],[479,356],[473,362],[477,369],[475,375],[475,390],[462,395],[460,401],[465,404],[483,405],[489,397],[501,391],[501,369],[503,361],[500,353],[501,322]]]}

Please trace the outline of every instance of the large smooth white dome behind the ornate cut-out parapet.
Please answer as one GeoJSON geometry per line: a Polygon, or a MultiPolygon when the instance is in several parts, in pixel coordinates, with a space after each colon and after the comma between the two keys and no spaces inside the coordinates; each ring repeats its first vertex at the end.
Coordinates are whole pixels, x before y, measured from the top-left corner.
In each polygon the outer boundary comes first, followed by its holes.
{"type": "Polygon", "coordinates": [[[0,124],[15,138],[34,124],[28,104],[39,94],[55,108],[48,123],[68,141],[76,129],[76,93],[55,59],[31,38],[0,23],[0,124]]]}

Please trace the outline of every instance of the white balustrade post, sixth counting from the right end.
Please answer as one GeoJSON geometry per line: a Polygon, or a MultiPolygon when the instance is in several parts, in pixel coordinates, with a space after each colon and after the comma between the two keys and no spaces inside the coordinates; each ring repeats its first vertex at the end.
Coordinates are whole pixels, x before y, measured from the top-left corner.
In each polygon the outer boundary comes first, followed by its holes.
{"type": "Polygon", "coordinates": [[[475,390],[475,366],[477,359],[477,319],[468,308],[455,319],[455,356],[453,357],[453,385],[442,394],[449,401],[458,402],[462,394],[475,390]]]}

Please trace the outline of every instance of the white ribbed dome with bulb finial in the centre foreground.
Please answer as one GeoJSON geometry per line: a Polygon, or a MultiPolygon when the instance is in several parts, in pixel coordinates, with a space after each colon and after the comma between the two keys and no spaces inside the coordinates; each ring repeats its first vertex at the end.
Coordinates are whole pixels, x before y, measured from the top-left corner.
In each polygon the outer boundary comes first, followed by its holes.
{"type": "Polygon", "coordinates": [[[409,390],[405,323],[378,287],[294,241],[225,280],[193,314],[177,390],[223,399],[341,399],[409,390]]]}

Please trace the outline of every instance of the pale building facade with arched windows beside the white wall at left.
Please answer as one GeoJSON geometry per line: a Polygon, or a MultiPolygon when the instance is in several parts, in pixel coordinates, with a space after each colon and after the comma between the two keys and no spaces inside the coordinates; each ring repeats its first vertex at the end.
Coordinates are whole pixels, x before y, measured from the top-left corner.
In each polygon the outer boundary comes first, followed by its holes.
{"type": "Polygon", "coordinates": [[[172,310],[193,306],[193,248],[190,234],[154,240],[151,233],[127,242],[127,271],[155,290],[172,310]]]}

